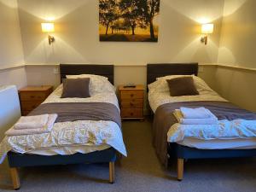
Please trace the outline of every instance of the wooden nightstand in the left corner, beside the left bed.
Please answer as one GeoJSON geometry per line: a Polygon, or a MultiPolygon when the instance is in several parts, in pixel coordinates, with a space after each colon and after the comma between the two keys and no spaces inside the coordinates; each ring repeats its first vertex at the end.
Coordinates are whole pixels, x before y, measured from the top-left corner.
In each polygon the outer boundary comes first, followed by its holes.
{"type": "Polygon", "coordinates": [[[53,91],[53,86],[27,86],[19,90],[20,109],[23,116],[37,108],[53,91]]]}

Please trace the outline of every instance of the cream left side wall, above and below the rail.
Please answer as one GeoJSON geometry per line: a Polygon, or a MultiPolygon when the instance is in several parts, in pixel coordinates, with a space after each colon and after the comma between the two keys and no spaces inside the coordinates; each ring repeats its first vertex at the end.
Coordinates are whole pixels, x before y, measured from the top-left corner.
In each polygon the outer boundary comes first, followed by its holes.
{"type": "Polygon", "coordinates": [[[16,0],[0,0],[0,86],[26,85],[20,23],[16,0]]]}

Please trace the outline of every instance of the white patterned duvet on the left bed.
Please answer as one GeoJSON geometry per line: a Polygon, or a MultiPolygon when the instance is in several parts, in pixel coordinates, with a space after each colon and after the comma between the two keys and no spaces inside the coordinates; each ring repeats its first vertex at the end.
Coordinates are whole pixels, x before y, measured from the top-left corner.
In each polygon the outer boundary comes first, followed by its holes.
{"type": "MultiPolygon", "coordinates": [[[[44,103],[49,102],[108,102],[119,108],[117,97],[113,90],[93,92],[90,98],[61,98],[62,85],[60,85],[44,103]]],[[[123,142],[122,131],[119,125],[113,121],[79,120],[73,122],[55,123],[53,130],[49,133],[4,137],[0,143],[0,163],[3,162],[5,155],[9,151],[25,154],[33,150],[44,148],[56,148],[67,146],[93,146],[95,150],[105,149],[111,146],[119,151],[120,154],[127,155],[123,142]],[[99,146],[99,148],[96,148],[99,146]],[[103,147],[102,147],[103,146],[103,147]]],[[[82,151],[68,151],[74,154],[82,151]]],[[[88,150],[87,150],[88,151],[88,150]]],[[[89,150],[92,152],[92,150],[89,150]]],[[[63,150],[58,153],[61,154],[63,150]]]]}

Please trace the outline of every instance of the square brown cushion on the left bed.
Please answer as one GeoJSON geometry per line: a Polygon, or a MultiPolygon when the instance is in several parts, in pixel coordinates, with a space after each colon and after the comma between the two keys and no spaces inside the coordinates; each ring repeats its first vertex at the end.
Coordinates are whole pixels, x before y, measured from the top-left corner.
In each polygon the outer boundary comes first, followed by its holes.
{"type": "Polygon", "coordinates": [[[67,97],[90,97],[89,84],[90,78],[83,79],[62,79],[63,91],[61,98],[67,97]]]}

